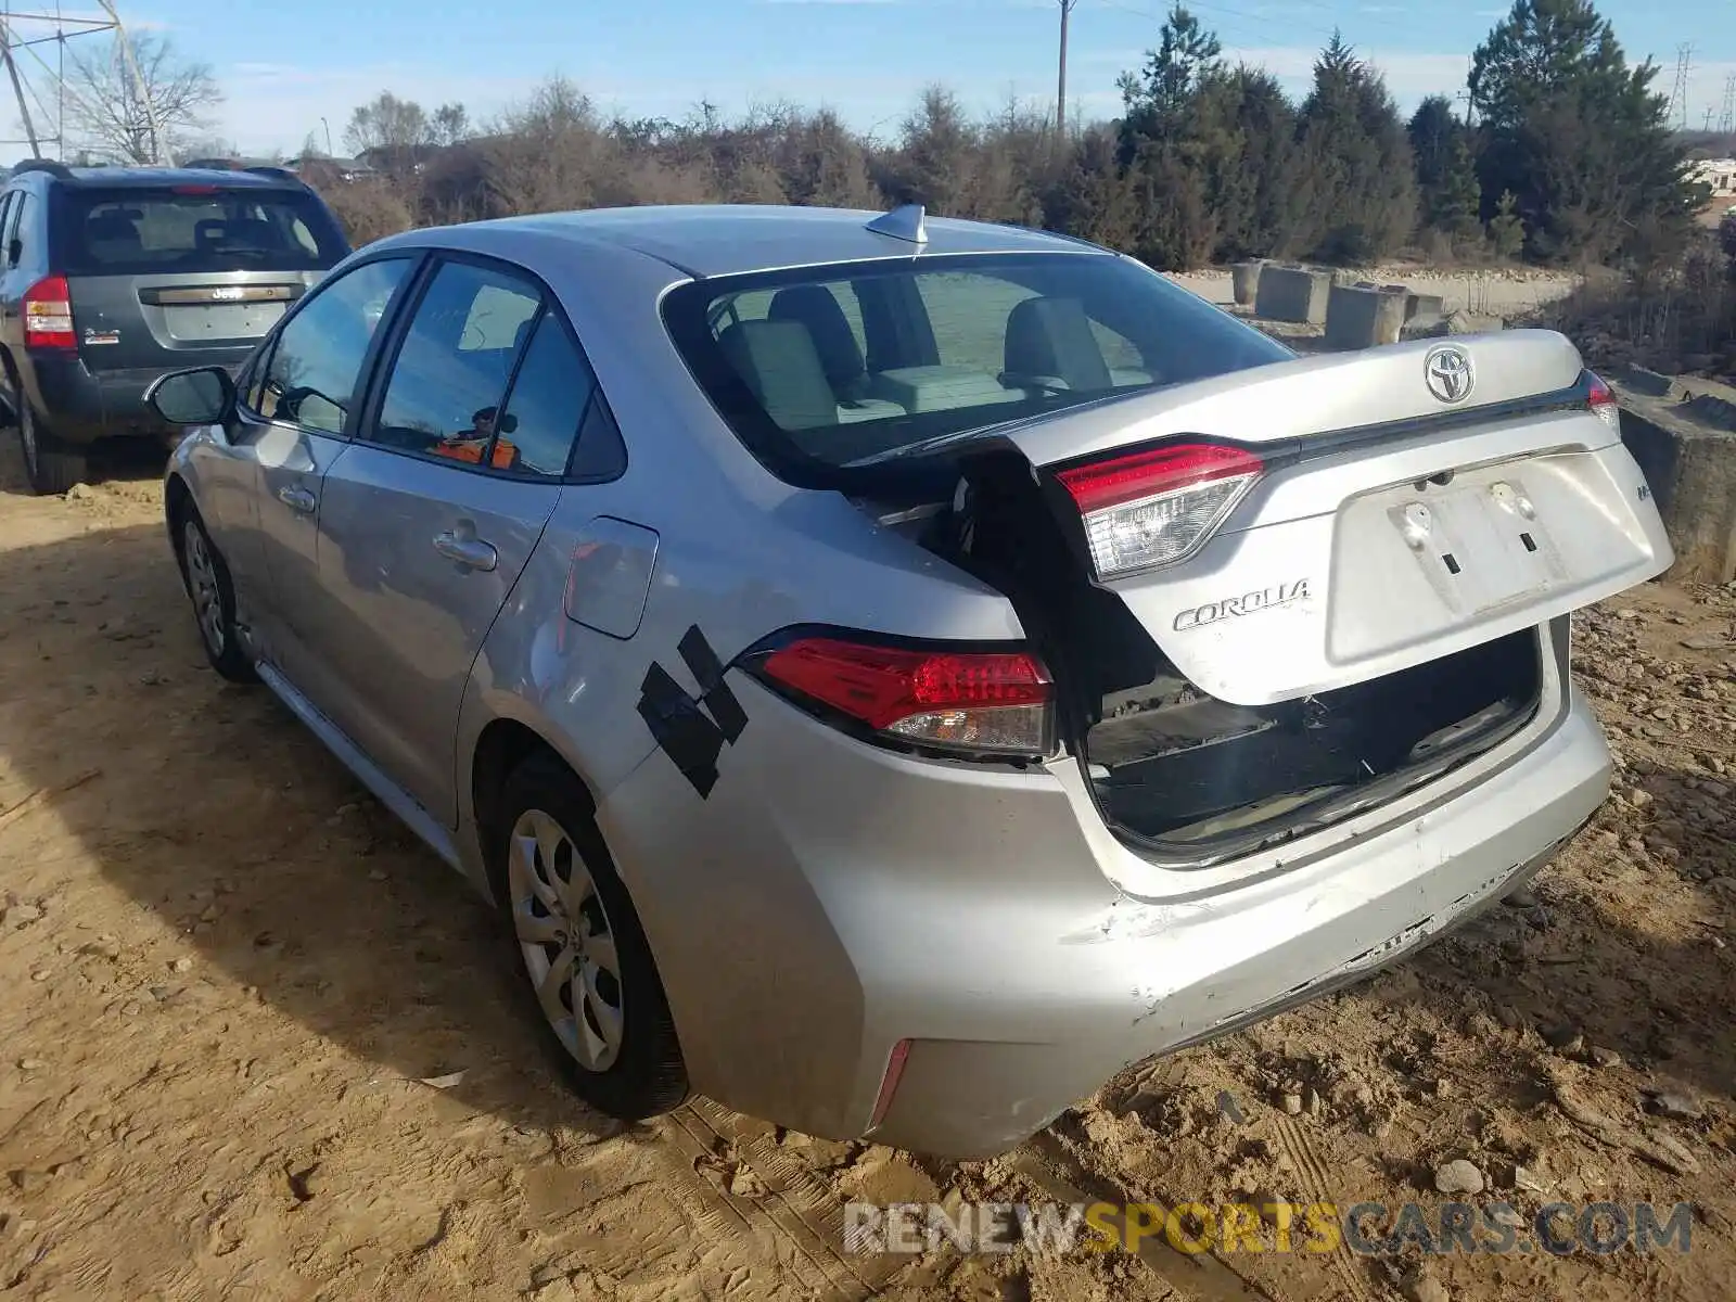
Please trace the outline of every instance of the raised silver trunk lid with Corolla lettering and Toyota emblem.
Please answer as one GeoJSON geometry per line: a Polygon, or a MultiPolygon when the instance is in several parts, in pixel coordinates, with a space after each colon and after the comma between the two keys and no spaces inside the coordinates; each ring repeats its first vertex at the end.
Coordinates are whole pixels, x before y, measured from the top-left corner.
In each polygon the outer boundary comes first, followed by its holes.
{"type": "Polygon", "coordinates": [[[1271,705],[1540,625],[1674,559],[1547,330],[1276,363],[1003,432],[1198,687],[1271,705]]]}

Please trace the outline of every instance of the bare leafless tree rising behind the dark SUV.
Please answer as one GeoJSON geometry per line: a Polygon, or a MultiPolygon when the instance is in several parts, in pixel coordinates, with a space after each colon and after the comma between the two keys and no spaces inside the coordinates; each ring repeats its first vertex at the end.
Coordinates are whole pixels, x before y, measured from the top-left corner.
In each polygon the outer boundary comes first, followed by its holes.
{"type": "Polygon", "coordinates": [[[182,59],[153,33],[120,36],[97,47],[66,47],[66,130],[69,149],[123,163],[174,161],[184,139],[208,127],[222,90],[208,64],[182,59]]]}

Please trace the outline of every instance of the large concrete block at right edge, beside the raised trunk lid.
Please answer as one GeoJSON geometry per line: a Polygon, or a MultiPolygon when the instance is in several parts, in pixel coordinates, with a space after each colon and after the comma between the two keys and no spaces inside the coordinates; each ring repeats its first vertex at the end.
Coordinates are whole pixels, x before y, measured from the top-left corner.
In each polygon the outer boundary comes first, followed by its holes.
{"type": "Polygon", "coordinates": [[[1639,462],[1675,549],[1672,580],[1736,578],[1736,432],[1684,420],[1680,408],[1614,382],[1621,443],[1639,462]]]}

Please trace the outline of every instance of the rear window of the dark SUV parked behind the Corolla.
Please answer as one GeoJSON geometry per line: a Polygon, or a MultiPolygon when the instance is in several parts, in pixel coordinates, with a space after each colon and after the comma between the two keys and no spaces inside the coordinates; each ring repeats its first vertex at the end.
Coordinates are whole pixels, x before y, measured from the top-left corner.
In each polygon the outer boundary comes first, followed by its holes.
{"type": "Polygon", "coordinates": [[[325,271],[349,252],[300,189],[62,191],[57,259],[71,276],[325,271]]]}

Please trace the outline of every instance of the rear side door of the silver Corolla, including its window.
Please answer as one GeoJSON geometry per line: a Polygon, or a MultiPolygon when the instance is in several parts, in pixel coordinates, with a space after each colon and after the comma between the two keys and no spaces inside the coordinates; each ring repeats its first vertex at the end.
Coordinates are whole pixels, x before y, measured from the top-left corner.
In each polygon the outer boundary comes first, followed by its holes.
{"type": "Polygon", "coordinates": [[[337,722],[411,799],[457,818],[470,667],[561,496],[590,373],[524,271],[425,278],[319,503],[319,611],[337,722]]]}

